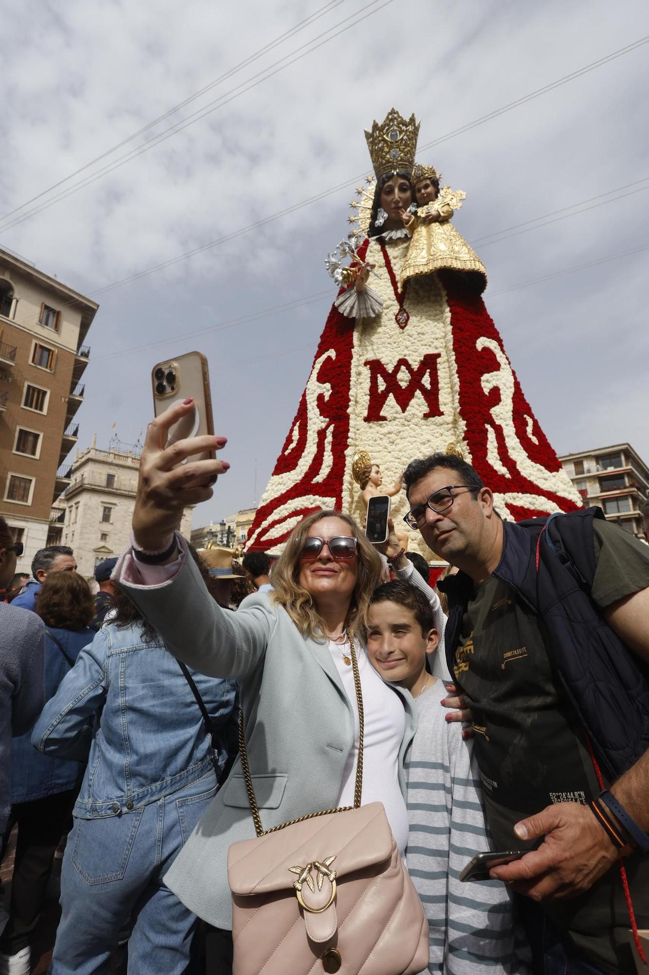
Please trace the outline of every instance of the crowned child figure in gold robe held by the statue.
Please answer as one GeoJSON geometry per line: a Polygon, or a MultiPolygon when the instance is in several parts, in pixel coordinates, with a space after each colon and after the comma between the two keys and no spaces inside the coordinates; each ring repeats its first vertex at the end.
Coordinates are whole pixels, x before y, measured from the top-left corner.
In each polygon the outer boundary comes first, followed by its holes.
{"type": "Polygon", "coordinates": [[[417,213],[401,213],[403,225],[411,236],[401,267],[401,288],[409,278],[444,270],[462,272],[473,291],[483,292],[486,287],[484,265],[450,222],[453,213],[462,206],[466,193],[454,191],[450,186],[439,189],[439,176],[434,166],[415,166],[412,185],[417,213]]]}

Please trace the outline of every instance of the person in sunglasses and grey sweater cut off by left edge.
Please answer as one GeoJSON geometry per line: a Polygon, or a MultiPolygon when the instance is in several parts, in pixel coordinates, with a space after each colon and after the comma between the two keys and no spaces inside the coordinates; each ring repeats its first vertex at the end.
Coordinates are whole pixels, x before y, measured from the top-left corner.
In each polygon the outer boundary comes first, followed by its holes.
{"type": "Polygon", "coordinates": [[[22,543],[0,517],[0,836],[11,802],[12,736],[25,734],[45,703],[45,624],[36,613],[1,602],[21,555],[22,543]]]}

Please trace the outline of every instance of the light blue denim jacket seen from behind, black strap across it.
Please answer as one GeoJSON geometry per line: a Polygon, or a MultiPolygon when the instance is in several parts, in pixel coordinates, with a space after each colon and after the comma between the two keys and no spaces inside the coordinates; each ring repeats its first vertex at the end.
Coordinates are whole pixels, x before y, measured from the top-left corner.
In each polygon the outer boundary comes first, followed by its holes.
{"type": "MultiPolygon", "coordinates": [[[[237,720],[237,683],[192,672],[224,741],[237,720]]],[[[83,755],[100,712],[73,814],[117,816],[163,799],[225,762],[214,761],[210,734],[177,661],[156,637],[145,643],[138,624],[105,624],[48,701],[32,732],[45,755],[83,755]]],[[[217,731],[218,733],[218,731],[217,731]]]]}

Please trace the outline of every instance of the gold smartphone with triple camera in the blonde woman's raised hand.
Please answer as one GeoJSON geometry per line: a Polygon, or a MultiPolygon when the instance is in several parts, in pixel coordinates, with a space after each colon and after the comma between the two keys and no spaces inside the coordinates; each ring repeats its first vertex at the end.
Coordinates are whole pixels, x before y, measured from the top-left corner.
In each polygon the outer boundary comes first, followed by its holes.
{"type": "MultiPolygon", "coordinates": [[[[194,409],[170,428],[167,447],[186,437],[201,437],[203,434],[213,436],[210,372],[208,360],[203,353],[186,352],[182,356],[156,363],[151,370],[151,384],[155,416],[164,413],[175,403],[182,403],[189,396],[194,400],[194,409]]],[[[213,460],[214,457],[214,450],[203,450],[195,454],[192,460],[213,460]]],[[[187,461],[183,460],[181,463],[185,464],[187,461]]]]}

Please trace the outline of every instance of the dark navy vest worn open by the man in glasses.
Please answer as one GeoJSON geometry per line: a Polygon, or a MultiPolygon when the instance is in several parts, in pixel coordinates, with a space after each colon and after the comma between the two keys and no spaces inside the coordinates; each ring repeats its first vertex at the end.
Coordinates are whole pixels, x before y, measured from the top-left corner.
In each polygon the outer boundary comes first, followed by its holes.
{"type": "MultiPolygon", "coordinates": [[[[504,522],[503,554],[492,574],[545,623],[554,672],[603,770],[615,779],[649,748],[649,667],[608,626],[590,596],[596,567],[592,522],[603,517],[600,508],[587,508],[504,522]]],[[[474,582],[458,572],[440,588],[449,604],[444,643],[452,674],[474,582]]]]}

